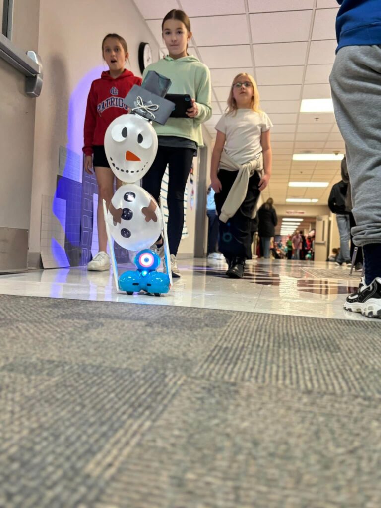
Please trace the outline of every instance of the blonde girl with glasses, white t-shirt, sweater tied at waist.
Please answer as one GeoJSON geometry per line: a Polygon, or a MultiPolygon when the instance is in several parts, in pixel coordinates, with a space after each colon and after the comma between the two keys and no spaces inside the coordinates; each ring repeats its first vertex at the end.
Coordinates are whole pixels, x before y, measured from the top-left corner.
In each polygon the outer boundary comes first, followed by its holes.
{"type": "Polygon", "coordinates": [[[229,265],[226,274],[232,278],[243,277],[245,261],[251,259],[251,218],[271,177],[272,122],[259,103],[255,80],[238,74],[228,111],[216,125],[210,178],[216,193],[219,250],[229,265]]]}

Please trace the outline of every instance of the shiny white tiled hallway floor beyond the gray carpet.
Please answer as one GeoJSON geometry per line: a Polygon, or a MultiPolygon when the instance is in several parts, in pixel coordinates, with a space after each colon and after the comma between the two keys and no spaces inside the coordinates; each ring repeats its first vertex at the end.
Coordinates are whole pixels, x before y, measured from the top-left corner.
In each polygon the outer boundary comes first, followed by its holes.
{"type": "Polygon", "coordinates": [[[84,267],[2,275],[0,294],[367,320],[343,310],[360,274],[351,276],[349,269],[333,263],[252,260],[243,280],[225,277],[227,265],[221,261],[179,260],[178,264],[181,278],[174,279],[171,291],[161,297],[117,293],[111,272],[87,272],[84,267]]]}

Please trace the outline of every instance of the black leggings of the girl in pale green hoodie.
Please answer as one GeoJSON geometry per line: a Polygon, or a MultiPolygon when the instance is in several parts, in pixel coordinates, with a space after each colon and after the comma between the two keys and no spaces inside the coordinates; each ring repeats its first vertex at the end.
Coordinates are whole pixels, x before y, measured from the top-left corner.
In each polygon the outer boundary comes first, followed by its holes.
{"type": "Polygon", "coordinates": [[[143,188],[159,202],[162,179],[168,164],[168,244],[169,252],[175,256],[184,223],[185,185],[192,167],[194,153],[193,148],[159,146],[155,160],[142,181],[143,188]]]}

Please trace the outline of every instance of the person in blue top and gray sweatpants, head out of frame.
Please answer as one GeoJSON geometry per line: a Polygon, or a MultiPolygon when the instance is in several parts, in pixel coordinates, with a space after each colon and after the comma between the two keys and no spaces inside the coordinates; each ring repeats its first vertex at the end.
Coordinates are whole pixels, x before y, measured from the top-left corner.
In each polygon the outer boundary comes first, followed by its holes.
{"type": "Polygon", "coordinates": [[[338,46],[330,84],[346,145],[353,239],[363,248],[365,265],[344,309],[381,318],[381,2],[337,2],[338,46]]]}

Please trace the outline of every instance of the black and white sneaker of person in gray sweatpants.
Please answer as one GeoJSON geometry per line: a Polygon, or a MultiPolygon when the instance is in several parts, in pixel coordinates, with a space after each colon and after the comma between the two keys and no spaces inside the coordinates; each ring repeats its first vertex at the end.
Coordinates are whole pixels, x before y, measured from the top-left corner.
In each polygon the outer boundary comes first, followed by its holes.
{"type": "Polygon", "coordinates": [[[375,278],[369,285],[362,278],[356,293],[346,298],[344,309],[381,319],[381,278],[375,278]]]}

